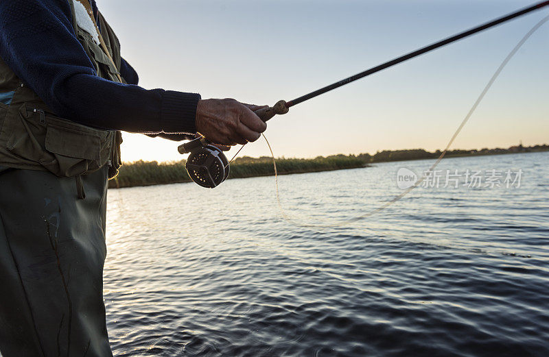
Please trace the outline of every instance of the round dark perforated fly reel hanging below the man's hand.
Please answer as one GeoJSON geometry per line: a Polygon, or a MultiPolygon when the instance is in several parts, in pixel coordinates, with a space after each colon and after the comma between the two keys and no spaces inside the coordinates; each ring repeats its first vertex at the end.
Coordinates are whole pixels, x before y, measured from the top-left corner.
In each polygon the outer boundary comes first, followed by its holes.
{"type": "Polygon", "coordinates": [[[178,147],[178,151],[190,153],[185,169],[191,180],[202,187],[217,187],[229,176],[229,161],[225,154],[205,138],[185,143],[178,147]]]}

